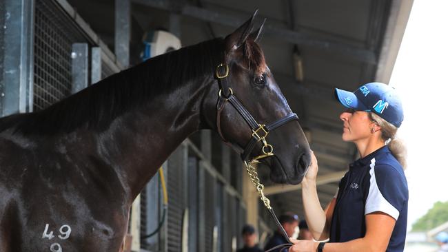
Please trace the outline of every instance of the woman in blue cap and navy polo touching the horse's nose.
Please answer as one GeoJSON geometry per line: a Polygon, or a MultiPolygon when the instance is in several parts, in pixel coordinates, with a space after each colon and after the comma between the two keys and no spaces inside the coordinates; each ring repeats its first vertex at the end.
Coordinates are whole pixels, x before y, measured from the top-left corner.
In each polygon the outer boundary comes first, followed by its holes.
{"type": "Polygon", "coordinates": [[[368,83],[354,92],[336,89],[347,107],[340,114],[343,140],[360,159],[349,165],[325,210],[316,191],[317,160],[302,182],[305,218],[314,240],[293,240],[289,251],[403,251],[407,225],[405,147],[395,138],[403,108],[392,87],[368,83]]]}

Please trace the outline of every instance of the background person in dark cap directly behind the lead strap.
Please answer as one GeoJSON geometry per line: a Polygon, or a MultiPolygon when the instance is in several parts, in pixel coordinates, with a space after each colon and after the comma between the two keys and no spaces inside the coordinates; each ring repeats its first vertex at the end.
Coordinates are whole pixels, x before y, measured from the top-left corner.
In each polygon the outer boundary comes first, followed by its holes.
{"type": "MultiPolygon", "coordinates": [[[[298,216],[294,213],[287,212],[283,213],[279,218],[278,222],[282,225],[283,229],[285,229],[288,237],[292,237],[294,234],[294,231],[296,230],[296,227],[298,227],[298,216]]],[[[286,240],[286,238],[283,237],[280,230],[276,230],[274,232],[274,235],[269,239],[269,241],[265,245],[265,251],[268,249],[273,248],[274,246],[288,243],[289,241],[286,240]]],[[[287,251],[287,249],[275,249],[272,252],[284,252],[287,251]]]]}

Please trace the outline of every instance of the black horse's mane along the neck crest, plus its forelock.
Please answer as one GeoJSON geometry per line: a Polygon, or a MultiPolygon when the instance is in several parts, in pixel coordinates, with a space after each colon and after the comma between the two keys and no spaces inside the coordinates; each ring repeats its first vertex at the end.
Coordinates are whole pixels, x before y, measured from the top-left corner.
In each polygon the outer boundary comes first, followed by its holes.
{"type": "MultiPolygon", "coordinates": [[[[21,134],[72,132],[79,127],[102,131],[124,112],[152,96],[169,93],[198,77],[214,74],[223,60],[223,39],[212,39],[156,56],[113,74],[38,112],[0,118],[0,132],[13,128],[21,134]]],[[[243,48],[248,65],[265,69],[263,51],[254,41],[243,48]]]]}

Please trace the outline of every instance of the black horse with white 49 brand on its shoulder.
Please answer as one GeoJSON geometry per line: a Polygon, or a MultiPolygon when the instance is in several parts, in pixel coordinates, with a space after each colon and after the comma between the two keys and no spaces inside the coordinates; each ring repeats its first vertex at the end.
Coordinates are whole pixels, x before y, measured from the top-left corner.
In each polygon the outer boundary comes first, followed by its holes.
{"type": "MultiPolygon", "coordinates": [[[[48,109],[1,118],[0,251],[121,251],[132,201],[187,136],[214,129],[245,148],[253,132],[243,116],[230,103],[216,113],[221,63],[232,94],[258,122],[292,114],[253,20],[225,39],[157,56],[48,109]]],[[[272,180],[301,182],[309,145],[297,120],[266,140],[274,147],[263,159],[272,180]]],[[[248,158],[261,153],[262,142],[248,158]]]]}

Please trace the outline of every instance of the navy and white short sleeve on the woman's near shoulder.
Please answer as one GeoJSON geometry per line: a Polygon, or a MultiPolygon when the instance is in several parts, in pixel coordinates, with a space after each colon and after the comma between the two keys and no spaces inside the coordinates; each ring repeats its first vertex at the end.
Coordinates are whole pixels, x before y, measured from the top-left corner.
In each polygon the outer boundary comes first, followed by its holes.
{"type": "Polygon", "coordinates": [[[408,199],[407,182],[403,174],[391,165],[370,165],[369,194],[365,202],[365,214],[380,211],[398,220],[400,211],[408,199]]]}

